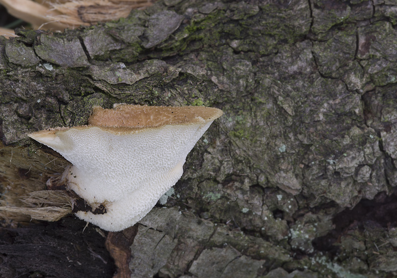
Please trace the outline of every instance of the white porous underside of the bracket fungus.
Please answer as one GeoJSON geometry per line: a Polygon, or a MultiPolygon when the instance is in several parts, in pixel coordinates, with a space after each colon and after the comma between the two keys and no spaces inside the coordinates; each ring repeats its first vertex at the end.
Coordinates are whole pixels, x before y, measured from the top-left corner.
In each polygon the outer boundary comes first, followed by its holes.
{"type": "Polygon", "coordinates": [[[59,152],[70,189],[89,203],[104,203],[106,214],[76,215],[108,231],[144,217],[182,176],[186,157],[212,121],[166,125],[116,135],[98,127],[70,128],[41,143],[59,152]]]}

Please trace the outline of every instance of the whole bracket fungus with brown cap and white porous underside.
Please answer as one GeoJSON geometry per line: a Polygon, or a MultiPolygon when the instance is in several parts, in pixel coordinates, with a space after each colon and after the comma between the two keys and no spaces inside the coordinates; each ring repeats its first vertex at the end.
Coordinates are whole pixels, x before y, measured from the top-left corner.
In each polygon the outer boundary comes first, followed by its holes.
{"type": "Polygon", "coordinates": [[[47,184],[66,186],[96,208],[77,211],[77,217],[119,231],[143,218],[179,180],[187,155],[222,113],[207,107],[94,107],[86,126],[28,136],[72,164],[47,184]]]}

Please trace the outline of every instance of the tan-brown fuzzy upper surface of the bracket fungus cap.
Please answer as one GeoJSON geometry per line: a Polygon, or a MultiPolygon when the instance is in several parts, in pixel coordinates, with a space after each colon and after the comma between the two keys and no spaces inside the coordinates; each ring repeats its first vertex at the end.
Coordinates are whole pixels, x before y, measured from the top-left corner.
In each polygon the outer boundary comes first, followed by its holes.
{"type": "Polygon", "coordinates": [[[145,128],[162,125],[202,124],[220,117],[222,111],[202,106],[166,107],[115,105],[114,109],[94,107],[88,123],[101,127],[145,128]]]}

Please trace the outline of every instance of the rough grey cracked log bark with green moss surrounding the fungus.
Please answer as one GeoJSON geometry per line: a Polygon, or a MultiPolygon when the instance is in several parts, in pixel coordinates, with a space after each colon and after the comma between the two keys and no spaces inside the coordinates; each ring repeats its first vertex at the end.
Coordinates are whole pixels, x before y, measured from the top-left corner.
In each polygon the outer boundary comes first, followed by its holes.
{"type": "MultiPolygon", "coordinates": [[[[135,225],[131,277],[393,277],[396,23],[392,0],[164,0],[62,34],[19,30],[0,39],[2,142],[49,156],[26,183],[62,161],[26,134],[86,124],[92,106],[220,108],[135,225]]],[[[10,238],[1,269],[18,273],[10,238]]]]}

